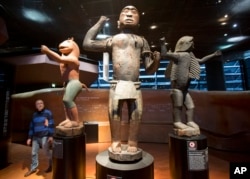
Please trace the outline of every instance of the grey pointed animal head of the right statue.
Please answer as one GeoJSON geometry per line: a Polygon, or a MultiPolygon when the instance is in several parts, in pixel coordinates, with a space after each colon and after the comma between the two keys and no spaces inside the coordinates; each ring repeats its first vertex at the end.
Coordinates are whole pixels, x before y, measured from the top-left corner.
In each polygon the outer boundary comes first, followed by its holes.
{"type": "Polygon", "coordinates": [[[181,37],[175,46],[175,52],[186,52],[193,50],[194,42],[192,36],[181,37]]]}

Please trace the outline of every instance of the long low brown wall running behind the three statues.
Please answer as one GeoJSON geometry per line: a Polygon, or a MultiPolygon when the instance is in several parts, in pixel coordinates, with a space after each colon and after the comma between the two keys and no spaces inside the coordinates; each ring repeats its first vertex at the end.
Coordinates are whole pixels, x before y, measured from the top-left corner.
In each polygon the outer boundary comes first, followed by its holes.
{"type": "MultiPolygon", "coordinates": [[[[168,134],[173,128],[169,92],[142,89],[144,111],[140,142],[168,142],[168,134]]],[[[191,90],[190,93],[196,105],[195,121],[202,133],[208,137],[209,147],[225,151],[250,151],[250,146],[246,145],[250,143],[249,91],[191,90]]],[[[62,95],[63,91],[59,88],[12,95],[12,141],[26,140],[29,120],[37,98],[44,99],[46,106],[54,113],[56,124],[62,121],[62,95]]],[[[109,142],[108,89],[90,89],[89,92],[83,90],[76,103],[82,121],[98,124],[98,142],[109,142]]],[[[123,116],[127,119],[126,109],[123,116]]],[[[127,121],[124,121],[124,129],[127,127],[126,123],[127,121]]],[[[123,139],[126,140],[126,134],[123,139]]]]}

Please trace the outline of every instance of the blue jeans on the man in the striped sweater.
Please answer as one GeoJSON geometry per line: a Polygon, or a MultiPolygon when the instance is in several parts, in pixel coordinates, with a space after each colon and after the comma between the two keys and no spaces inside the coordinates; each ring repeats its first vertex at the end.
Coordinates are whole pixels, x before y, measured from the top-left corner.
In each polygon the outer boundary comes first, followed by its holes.
{"type": "Polygon", "coordinates": [[[35,170],[39,165],[38,153],[39,153],[40,146],[42,147],[43,152],[48,159],[49,166],[52,165],[52,154],[49,150],[48,137],[33,137],[32,152],[31,152],[32,161],[31,161],[30,170],[35,170]]]}

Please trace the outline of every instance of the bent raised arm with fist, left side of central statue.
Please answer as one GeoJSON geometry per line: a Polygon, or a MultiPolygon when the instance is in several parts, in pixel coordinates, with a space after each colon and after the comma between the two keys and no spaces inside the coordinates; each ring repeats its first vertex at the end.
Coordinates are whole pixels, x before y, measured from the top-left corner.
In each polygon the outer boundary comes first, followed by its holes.
{"type": "Polygon", "coordinates": [[[101,16],[97,23],[88,30],[82,43],[84,50],[93,52],[107,51],[107,40],[96,40],[96,36],[108,20],[106,16],[101,16]]]}

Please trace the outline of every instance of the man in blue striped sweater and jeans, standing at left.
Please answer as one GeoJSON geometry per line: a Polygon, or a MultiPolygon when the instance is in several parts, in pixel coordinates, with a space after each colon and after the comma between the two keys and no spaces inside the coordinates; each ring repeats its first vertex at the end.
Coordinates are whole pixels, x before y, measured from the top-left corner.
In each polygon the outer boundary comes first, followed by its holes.
{"type": "Polygon", "coordinates": [[[36,112],[30,122],[27,145],[32,144],[31,165],[30,170],[25,173],[25,177],[35,173],[39,165],[38,152],[40,146],[48,159],[48,168],[46,173],[52,171],[52,154],[49,146],[53,141],[54,134],[54,119],[52,112],[45,108],[44,102],[41,99],[35,102],[36,112]]]}

